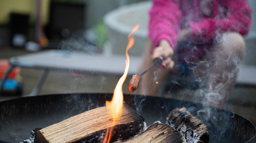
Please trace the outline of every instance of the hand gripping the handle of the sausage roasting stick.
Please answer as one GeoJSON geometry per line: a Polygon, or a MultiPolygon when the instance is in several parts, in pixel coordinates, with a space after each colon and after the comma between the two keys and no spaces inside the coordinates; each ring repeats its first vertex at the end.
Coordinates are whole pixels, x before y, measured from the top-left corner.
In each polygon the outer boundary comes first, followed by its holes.
{"type": "Polygon", "coordinates": [[[161,40],[159,46],[152,53],[152,59],[163,56],[166,59],[162,61],[162,67],[171,70],[174,67],[174,61],[171,59],[174,54],[173,48],[167,40],[161,40]]]}

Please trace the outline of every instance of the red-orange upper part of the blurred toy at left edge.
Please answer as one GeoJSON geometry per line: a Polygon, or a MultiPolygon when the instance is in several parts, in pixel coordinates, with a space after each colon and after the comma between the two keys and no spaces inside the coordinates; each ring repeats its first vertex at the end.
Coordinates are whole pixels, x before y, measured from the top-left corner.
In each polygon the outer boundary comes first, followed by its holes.
{"type": "MultiPolygon", "coordinates": [[[[0,79],[3,78],[5,72],[10,68],[10,64],[8,62],[8,59],[0,59],[0,79]]],[[[9,79],[16,78],[17,75],[20,73],[20,67],[15,67],[11,70],[11,72],[8,75],[9,79]]]]}

